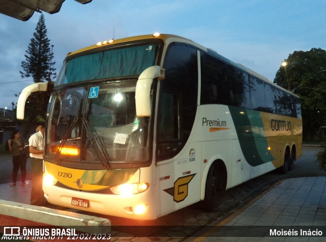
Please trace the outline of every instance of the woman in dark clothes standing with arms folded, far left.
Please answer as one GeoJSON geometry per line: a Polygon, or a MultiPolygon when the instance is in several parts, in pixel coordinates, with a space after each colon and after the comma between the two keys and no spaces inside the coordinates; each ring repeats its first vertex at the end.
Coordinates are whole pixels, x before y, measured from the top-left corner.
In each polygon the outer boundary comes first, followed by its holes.
{"type": "Polygon", "coordinates": [[[25,178],[26,178],[27,156],[25,155],[25,142],[22,138],[20,138],[20,132],[18,130],[14,130],[12,132],[11,139],[8,140],[8,146],[10,152],[12,153],[12,163],[14,165],[12,170],[12,183],[10,186],[16,185],[19,167],[21,171],[20,185],[23,186],[25,185],[25,178]]]}

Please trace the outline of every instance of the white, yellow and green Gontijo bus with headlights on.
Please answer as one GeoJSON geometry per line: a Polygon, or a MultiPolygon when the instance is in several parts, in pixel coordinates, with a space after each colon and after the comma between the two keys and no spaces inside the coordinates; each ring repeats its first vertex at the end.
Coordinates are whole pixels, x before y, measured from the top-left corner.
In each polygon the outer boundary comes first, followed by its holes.
{"type": "MultiPolygon", "coordinates": [[[[32,92],[19,96],[17,118],[32,92]]],[[[51,204],[154,220],[302,154],[298,96],[192,40],[154,34],[68,53],[47,109],[51,204]]]]}

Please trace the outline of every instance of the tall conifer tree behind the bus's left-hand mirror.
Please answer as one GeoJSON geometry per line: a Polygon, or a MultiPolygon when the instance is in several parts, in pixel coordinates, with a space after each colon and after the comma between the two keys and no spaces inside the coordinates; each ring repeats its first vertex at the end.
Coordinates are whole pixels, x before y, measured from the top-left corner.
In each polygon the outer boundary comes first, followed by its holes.
{"type": "Polygon", "coordinates": [[[52,78],[57,76],[56,68],[53,68],[56,63],[52,62],[54,54],[46,34],[45,19],[41,14],[34,37],[25,51],[25,61],[21,62],[23,71],[20,71],[20,74],[22,78],[32,77],[35,83],[48,82],[48,90],[45,93],[32,93],[26,101],[25,121],[28,124],[45,121],[47,104],[53,87],[52,78]]]}

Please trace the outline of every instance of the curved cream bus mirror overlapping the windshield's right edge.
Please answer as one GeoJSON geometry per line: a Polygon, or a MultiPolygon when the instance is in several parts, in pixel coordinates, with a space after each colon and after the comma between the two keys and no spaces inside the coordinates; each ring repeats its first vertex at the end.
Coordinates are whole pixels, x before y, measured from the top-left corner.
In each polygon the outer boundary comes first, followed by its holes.
{"type": "Polygon", "coordinates": [[[165,70],[151,66],[144,70],[137,80],[135,91],[136,114],[139,117],[151,116],[151,86],[154,78],[164,79],[165,70]]]}

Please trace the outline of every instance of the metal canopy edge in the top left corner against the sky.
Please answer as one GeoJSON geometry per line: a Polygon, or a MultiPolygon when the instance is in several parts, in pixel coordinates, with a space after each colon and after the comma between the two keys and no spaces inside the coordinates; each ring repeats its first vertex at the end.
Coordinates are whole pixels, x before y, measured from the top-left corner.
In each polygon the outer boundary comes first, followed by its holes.
{"type": "MultiPolygon", "coordinates": [[[[75,0],[88,4],[92,0],[75,0]]],[[[65,0],[1,0],[0,13],[22,21],[29,20],[34,12],[58,13],[65,0]]]]}

